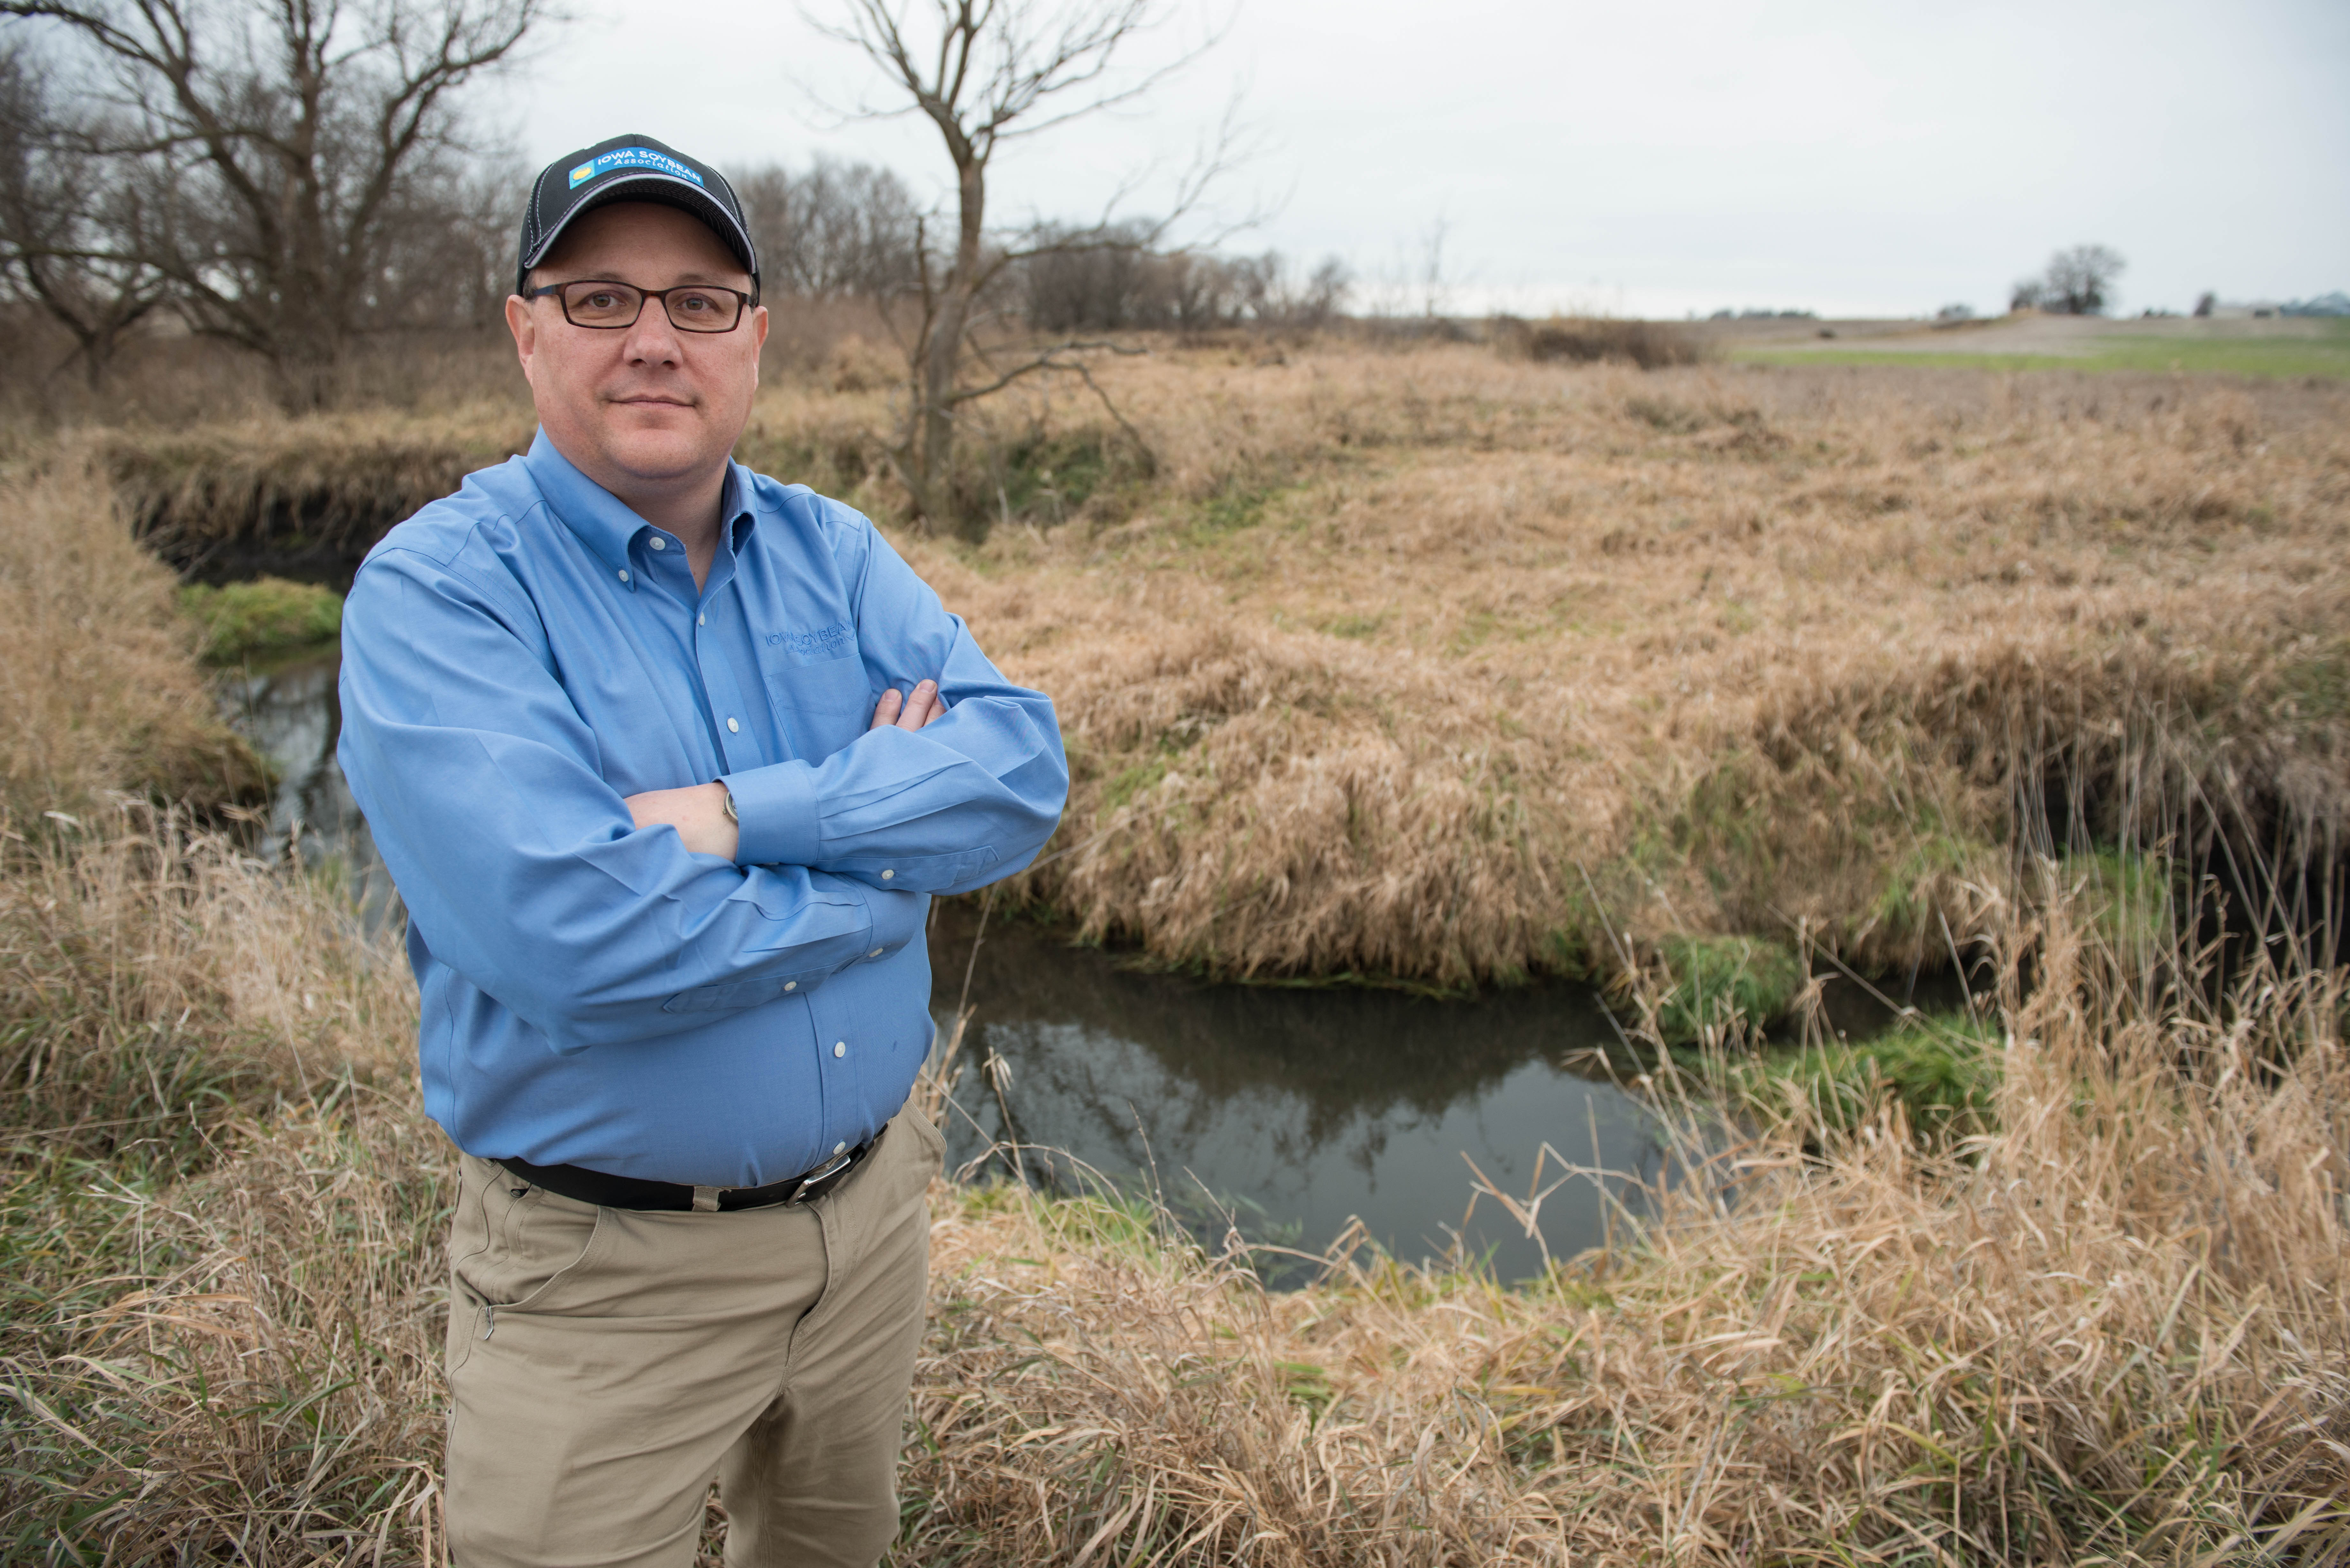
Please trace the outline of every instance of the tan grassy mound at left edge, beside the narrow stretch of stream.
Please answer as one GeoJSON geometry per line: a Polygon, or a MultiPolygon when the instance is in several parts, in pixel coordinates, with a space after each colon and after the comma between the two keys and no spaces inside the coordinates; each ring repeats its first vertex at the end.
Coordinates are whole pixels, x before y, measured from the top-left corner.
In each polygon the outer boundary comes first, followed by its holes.
{"type": "Polygon", "coordinates": [[[106,790],[254,799],[261,762],[190,663],[172,571],[80,451],[0,473],[0,799],[21,823],[106,790]]]}

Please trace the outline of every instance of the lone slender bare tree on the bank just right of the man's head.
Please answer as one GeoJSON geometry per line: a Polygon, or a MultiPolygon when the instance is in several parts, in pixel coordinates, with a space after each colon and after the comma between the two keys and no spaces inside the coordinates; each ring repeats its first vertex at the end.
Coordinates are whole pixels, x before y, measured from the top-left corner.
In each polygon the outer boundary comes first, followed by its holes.
{"type": "MultiPolygon", "coordinates": [[[[907,341],[909,402],[898,440],[888,449],[898,480],[914,498],[914,510],[933,527],[968,524],[956,515],[952,496],[954,440],[959,411],[1013,381],[1039,371],[1067,371],[1100,395],[1100,383],[1081,357],[1083,348],[1102,343],[1058,343],[1022,357],[1010,367],[987,367],[966,378],[973,355],[975,308],[1003,268],[1036,254],[1036,242],[992,240],[987,228],[987,169],[994,155],[1018,136],[1034,136],[1114,103],[1133,101],[1191,63],[1191,49],[1159,71],[1119,82],[1112,66],[1119,49],[1156,26],[1163,0],[841,0],[846,24],[815,21],[830,38],[858,47],[905,103],[881,113],[919,113],[940,134],[954,162],[954,226],[945,244],[928,244],[924,223],[916,299],[919,329],[907,341]],[[919,19],[916,19],[919,16],[919,19]]],[[[1213,40],[1208,40],[1213,42],[1213,40]]],[[[1217,155],[1194,167],[1175,202],[1175,214],[1189,209],[1201,186],[1222,169],[1229,148],[1229,120],[1217,155]]],[[[1140,233],[1107,219],[1083,233],[1062,233],[1048,244],[1074,249],[1142,249],[1166,233],[1161,219],[1140,233]]],[[[1102,397],[1104,407],[1109,400],[1102,397]]],[[[1112,418],[1137,442],[1133,425],[1109,407],[1112,418]]],[[[1149,449],[1142,447],[1144,458],[1149,449]]]]}

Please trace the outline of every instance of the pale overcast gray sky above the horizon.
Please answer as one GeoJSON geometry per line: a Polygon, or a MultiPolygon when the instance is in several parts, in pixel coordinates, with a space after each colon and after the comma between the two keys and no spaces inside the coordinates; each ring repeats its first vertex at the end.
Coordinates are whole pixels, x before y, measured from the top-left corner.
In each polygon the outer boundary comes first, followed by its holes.
{"type": "MultiPolygon", "coordinates": [[[[637,129],[724,165],[865,158],[947,197],[935,132],[811,103],[806,85],[851,103],[877,78],[790,7],[578,12],[501,89],[533,162],[637,129]]],[[[1135,209],[1163,202],[1241,92],[1260,150],[1222,205],[1271,216],[1229,244],[1337,252],[1375,292],[1441,221],[1457,310],[2000,310],[2014,277],[2075,242],[2129,259],[2131,315],[2202,289],[2350,289],[2345,0],[1241,0],[1222,14],[1222,42],[1140,110],[1008,146],[996,216],[1086,216],[1149,169],[1135,209]]],[[[1133,61],[1201,31],[1182,12],[1133,61]]]]}

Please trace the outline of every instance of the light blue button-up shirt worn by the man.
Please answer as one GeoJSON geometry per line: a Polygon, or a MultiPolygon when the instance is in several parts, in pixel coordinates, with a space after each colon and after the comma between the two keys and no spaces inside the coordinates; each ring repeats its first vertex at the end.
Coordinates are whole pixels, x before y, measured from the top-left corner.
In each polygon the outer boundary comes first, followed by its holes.
{"type": "Polygon", "coordinates": [[[425,1110],[486,1159],[757,1187],[870,1138],[931,1048],[931,893],[1027,865],[1069,766],[874,527],[728,468],[686,548],[545,433],[378,543],[338,757],[409,907],[425,1110]],[[884,689],[947,715],[870,729],[884,689]],[[625,795],[724,778],[733,863],[625,795]]]}

